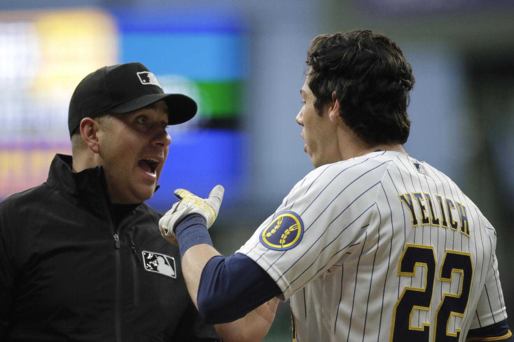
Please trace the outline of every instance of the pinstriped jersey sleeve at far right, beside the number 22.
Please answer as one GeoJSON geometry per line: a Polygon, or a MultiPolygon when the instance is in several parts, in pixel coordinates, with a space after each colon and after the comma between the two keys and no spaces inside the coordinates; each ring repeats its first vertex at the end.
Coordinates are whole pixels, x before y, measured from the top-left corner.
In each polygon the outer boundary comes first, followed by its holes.
{"type": "MultiPolygon", "coordinates": [[[[486,225],[492,227],[487,221],[486,225]]],[[[502,285],[500,283],[500,273],[498,271],[498,259],[495,256],[496,232],[492,228],[489,232],[493,246],[491,251],[493,262],[487,272],[487,279],[476,306],[470,329],[490,326],[507,318],[505,300],[503,299],[502,285]]]]}

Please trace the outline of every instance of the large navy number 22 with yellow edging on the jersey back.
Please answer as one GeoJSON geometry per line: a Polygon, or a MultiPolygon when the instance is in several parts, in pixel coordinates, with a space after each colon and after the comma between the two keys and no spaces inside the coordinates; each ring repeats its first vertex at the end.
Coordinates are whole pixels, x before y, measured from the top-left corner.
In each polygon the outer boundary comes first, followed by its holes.
{"type": "MultiPolygon", "coordinates": [[[[430,311],[434,290],[437,261],[433,246],[408,243],[398,262],[398,275],[414,277],[416,268],[424,269],[425,286],[423,288],[405,287],[393,309],[390,342],[428,341],[430,322],[423,322],[420,327],[412,326],[414,311],[430,311]]],[[[451,316],[464,317],[468,307],[471,285],[473,282],[473,260],[471,254],[461,251],[446,250],[440,265],[439,281],[450,282],[454,273],[461,273],[461,281],[456,294],[443,294],[435,311],[433,341],[458,341],[461,328],[449,331],[451,316]]]]}

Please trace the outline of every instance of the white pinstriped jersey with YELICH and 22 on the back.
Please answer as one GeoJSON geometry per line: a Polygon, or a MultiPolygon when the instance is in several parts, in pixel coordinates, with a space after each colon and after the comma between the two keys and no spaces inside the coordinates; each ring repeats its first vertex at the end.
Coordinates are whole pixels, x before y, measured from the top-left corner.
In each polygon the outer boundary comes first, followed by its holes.
{"type": "Polygon", "coordinates": [[[291,298],[299,342],[464,341],[507,317],[495,245],[451,179],[375,151],[310,172],[236,253],[291,298]]]}

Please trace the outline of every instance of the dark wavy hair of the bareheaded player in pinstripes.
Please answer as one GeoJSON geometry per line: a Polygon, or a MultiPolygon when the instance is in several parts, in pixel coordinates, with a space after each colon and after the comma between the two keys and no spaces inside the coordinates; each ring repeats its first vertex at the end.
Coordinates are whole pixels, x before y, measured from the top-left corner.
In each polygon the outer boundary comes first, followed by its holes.
{"type": "Polygon", "coordinates": [[[310,43],[306,63],[318,115],[335,91],[339,116],[364,142],[407,141],[414,75],[393,40],[370,30],[321,34],[310,43]]]}

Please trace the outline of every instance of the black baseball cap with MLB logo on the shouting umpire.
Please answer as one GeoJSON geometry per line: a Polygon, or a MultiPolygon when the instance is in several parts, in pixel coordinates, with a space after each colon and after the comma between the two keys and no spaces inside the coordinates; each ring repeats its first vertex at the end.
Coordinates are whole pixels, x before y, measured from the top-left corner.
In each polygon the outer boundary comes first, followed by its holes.
{"type": "Polygon", "coordinates": [[[168,124],[193,118],[196,102],[183,94],[165,94],[159,81],[141,63],[105,66],[88,74],[77,86],[68,110],[70,136],[84,118],[101,113],[128,113],[163,100],[168,105],[168,124]]]}

